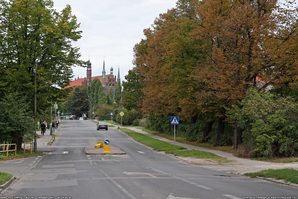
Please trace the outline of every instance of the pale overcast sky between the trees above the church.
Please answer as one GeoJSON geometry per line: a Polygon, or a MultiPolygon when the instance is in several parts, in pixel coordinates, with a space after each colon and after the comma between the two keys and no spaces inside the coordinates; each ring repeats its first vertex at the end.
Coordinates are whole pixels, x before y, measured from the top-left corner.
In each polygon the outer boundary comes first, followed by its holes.
{"type": "MultiPolygon", "coordinates": [[[[143,30],[154,23],[160,13],[175,7],[176,0],[53,0],[54,9],[61,11],[69,4],[76,15],[82,38],[73,45],[80,47],[81,59],[92,63],[92,77],[106,74],[113,66],[114,75],[120,68],[121,81],[132,69],[133,47],[144,39],[143,30]]],[[[76,78],[86,77],[86,68],[73,67],[76,78]]],[[[73,77],[73,80],[74,78],[73,77]]]]}

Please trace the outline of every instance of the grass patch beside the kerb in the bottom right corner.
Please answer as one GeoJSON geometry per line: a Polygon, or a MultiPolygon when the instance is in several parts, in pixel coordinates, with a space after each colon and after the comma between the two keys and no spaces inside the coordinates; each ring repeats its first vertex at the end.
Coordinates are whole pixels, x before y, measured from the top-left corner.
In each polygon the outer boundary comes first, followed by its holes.
{"type": "Polygon", "coordinates": [[[263,178],[275,178],[276,180],[285,180],[298,184],[298,171],[295,169],[267,169],[259,172],[244,173],[244,175],[256,178],[257,176],[263,178]]]}

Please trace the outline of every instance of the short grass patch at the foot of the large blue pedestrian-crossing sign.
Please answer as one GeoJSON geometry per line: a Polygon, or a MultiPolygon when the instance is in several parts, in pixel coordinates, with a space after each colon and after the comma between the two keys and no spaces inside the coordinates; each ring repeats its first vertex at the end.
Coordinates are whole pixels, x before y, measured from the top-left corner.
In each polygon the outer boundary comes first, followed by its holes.
{"type": "Polygon", "coordinates": [[[211,159],[218,162],[232,162],[227,158],[223,158],[221,156],[215,155],[214,153],[199,151],[199,150],[183,150],[183,151],[166,151],[166,153],[172,154],[174,156],[182,156],[182,157],[195,157],[199,159],[211,159]]]}

